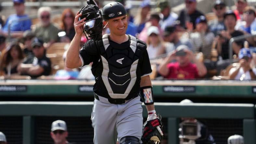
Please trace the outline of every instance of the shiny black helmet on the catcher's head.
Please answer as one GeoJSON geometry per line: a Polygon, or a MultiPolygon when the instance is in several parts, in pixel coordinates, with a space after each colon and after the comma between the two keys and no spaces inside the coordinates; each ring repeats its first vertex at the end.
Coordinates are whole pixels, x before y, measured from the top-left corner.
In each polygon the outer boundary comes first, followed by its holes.
{"type": "Polygon", "coordinates": [[[112,2],[102,8],[103,20],[109,20],[111,18],[117,18],[126,15],[127,12],[124,6],[119,2],[112,2]]]}

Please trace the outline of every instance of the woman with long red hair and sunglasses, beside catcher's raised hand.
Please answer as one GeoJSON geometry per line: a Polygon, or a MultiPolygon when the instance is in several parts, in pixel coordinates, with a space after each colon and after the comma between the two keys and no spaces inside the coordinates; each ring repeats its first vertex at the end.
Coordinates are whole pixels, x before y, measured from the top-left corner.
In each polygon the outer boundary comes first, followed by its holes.
{"type": "Polygon", "coordinates": [[[74,28],[74,19],[75,14],[70,8],[64,9],[61,16],[61,25],[60,28],[62,31],[66,32],[67,42],[71,42],[76,34],[74,28]]]}

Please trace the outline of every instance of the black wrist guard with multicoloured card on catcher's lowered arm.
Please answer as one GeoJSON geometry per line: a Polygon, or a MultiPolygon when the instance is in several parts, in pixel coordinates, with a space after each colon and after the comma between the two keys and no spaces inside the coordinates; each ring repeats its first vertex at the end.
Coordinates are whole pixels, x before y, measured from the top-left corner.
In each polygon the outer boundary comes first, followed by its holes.
{"type": "Polygon", "coordinates": [[[154,103],[152,86],[146,86],[140,88],[140,96],[145,105],[154,103]]]}

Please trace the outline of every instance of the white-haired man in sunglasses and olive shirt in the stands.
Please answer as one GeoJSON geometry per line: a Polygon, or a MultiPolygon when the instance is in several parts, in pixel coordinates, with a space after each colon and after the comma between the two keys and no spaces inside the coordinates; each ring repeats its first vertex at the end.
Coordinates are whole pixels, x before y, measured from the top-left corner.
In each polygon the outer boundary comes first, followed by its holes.
{"type": "Polygon", "coordinates": [[[36,37],[39,37],[44,42],[46,42],[47,44],[45,48],[48,48],[54,42],[58,42],[59,28],[50,20],[50,7],[40,7],[38,9],[37,15],[40,19],[40,23],[36,24],[35,29],[33,29],[33,33],[36,37]]]}

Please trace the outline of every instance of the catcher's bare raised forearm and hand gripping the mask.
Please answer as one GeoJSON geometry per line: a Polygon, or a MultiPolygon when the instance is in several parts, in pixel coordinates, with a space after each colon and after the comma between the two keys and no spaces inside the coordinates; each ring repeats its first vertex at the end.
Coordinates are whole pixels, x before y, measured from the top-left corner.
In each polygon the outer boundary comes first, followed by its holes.
{"type": "Polygon", "coordinates": [[[76,68],[82,66],[82,60],[79,57],[79,50],[80,50],[80,41],[83,34],[83,25],[85,24],[85,18],[79,20],[79,17],[82,14],[79,12],[76,13],[76,17],[74,20],[74,28],[75,28],[75,36],[73,40],[70,42],[70,46],[67,52],[66,57],[66,66],[68,68],[76,68]]]}

